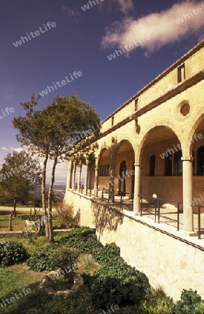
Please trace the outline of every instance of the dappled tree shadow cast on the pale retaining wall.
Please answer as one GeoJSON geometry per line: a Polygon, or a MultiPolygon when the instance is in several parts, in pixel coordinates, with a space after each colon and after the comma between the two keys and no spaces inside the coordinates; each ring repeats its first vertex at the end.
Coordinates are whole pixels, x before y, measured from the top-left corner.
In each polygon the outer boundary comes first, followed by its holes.
{"type": "Polygon", "coordinates": [[[110,209],[108,205],[92,202],[92,212],[96,232],[99,234],[99,241],[104,230],[116,231],[117,227],[123,223],[124,216],[119,211],[110,209]]]}

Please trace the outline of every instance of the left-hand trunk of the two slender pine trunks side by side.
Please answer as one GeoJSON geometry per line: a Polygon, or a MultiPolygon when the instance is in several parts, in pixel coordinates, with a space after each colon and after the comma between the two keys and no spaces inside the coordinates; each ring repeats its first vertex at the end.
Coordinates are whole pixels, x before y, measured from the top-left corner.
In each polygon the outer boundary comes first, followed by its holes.
{"type": "Polygon", "coordinates": [[[46,241],[49,241],[49,225],[48,225],[48,212],[46,209],[46,189],[45,189],[45,183],[46,183],[46,167],[48,163],[48,154],[45,155],[45,160],[43,161],[43,176],[42,176],[42,208],[43,208],[43,218],[45,221],[45,238],[46,241]]]}

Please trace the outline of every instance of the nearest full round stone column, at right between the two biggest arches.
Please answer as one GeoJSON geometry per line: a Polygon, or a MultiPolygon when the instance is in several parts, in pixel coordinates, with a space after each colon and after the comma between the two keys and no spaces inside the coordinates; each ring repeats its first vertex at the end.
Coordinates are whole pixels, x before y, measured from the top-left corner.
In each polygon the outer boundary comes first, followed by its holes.
{"type": "Polygon", "coordinates": [[[194,237],[196,232],[194,232],[194,211],[191,207],[193,198],[193,167],[192,157],[182,157],[183,163],[183,232],[187,236],[194,237]]]}

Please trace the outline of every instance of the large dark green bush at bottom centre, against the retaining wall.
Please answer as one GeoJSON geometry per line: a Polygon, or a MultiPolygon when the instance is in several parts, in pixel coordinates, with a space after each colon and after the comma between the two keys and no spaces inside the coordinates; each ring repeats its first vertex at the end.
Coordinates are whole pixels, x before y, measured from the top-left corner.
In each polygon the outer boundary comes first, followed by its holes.
{"type": "Polygon", "coordinates": [[[147,276],[122,262],[104,266],[87,278],[97,307],[111,304],[138,304],[150,287],[147,276]]]}

